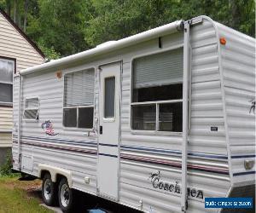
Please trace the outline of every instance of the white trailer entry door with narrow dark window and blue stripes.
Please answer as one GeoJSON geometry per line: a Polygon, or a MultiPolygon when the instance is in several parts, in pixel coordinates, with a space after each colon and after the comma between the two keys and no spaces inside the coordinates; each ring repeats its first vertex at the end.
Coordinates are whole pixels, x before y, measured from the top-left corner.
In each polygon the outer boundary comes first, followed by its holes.
{"type": "Polygon", "coordinates": [[[100,67],[100,128],[97,192],[108,199],[119,195],[119,95],[121,63],[100,67]]]}

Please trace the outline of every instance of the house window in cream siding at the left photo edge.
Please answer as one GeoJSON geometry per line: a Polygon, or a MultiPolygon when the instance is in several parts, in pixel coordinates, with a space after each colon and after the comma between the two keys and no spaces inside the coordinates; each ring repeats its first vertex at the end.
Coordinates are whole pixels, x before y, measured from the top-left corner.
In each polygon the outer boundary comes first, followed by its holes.
{"type": "Polygon", "coordinates": [[[13,102],[13,74],[15,60],[0,58],[0,104],[11,105],[13,102]]]}

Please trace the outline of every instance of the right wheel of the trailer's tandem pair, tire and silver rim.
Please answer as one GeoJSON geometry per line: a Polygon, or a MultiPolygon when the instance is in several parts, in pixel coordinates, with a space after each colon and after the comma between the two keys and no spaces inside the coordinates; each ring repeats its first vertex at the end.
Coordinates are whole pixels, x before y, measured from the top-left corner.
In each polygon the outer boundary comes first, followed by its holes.
{"type": "Polygon", "coordinates": [[[68,186],[67,178],[62,178],[59,183],[58,198],[62,212],[74,212],[76,205],[75,192],[68,186]]]}

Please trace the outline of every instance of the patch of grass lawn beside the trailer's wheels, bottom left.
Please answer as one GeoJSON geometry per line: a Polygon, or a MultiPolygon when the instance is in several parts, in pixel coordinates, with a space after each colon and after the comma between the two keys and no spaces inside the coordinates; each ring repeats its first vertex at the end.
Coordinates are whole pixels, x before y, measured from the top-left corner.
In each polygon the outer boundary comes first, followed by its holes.
{"type": "Polygon", "coordinates": [[[40,206],[41,182],[0,177],[0,213],[53,212],[40,206]]]}

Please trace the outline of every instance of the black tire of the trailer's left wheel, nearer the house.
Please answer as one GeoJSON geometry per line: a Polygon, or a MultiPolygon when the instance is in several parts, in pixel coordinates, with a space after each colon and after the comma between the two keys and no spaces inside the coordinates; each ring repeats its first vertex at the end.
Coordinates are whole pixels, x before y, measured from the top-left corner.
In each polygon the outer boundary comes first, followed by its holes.
{"type": "Polygon", "coordinates": [[[51,181],[51,176],[49,173],[46,173],[44,175],[44,179],[42,182],[42,198],[44,200],[44,204],[49,205],[49,206],[55,206],[57,203],[57,190],[56,190],[56,185],[55,182],[51,181]],[[49,188],[45,188],[45,182],[49,181],[49,188]],[[48,192],[46,192],[48,191],[48,192]],[[48,193],[49,196],[45,197],[45,193],[48,193]]]}

